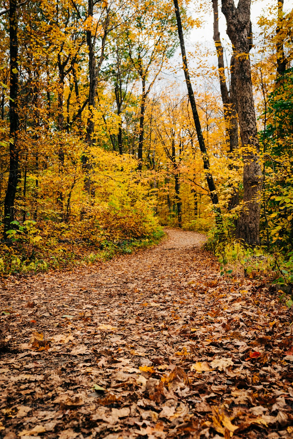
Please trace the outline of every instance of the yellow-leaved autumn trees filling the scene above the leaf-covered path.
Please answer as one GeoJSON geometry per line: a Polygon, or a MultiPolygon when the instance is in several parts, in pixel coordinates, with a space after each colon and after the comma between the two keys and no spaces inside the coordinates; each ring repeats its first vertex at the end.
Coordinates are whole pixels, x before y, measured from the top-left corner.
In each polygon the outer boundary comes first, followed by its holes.
{"type": "Polygon", "coordinates": [[[158,224],[292,248],[293,11],[250,8],[5,2],[2,270],[44,268],[49,249],[66,265],[69,245],[96,254],[158,224]]]}

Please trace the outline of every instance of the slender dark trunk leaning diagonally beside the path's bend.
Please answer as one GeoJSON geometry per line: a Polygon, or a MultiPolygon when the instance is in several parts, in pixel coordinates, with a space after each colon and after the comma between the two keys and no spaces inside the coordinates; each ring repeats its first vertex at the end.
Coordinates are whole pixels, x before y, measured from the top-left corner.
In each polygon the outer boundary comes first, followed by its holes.
{"type": "Polygon", "coordinates": [[[204,143],[204,136],[203,136],[201,126],[200,126],[200,119],[199,119],[199,116],[197,113],[197,106],[196,106],[195,99],[194,99],[193,89],[192,89],[192,85],[190,82],[188,65],[187,65],[187,58],[186,58],[186,51],[185,51],[185,45],[184,45],[184,38],[183,38],[183,32],[182,32],[182,23],[181,23],[180,11],[179,11],[179,6],[178,6],[178,0],[173,0],[173,1],[174,1],[174,6],[175,6],[175,14],[176,14],[176,20],[177,20],[177,26],[178,26],[178,35],[179,35],[179,41],[180,41],[180,47],[181,47],[181,53],[182,53],[183,70],[184,70],[184,75],[185,75],[185,80],[186,80],[186,85],[187,85],[187,90],[188,90],[189,102],[190,102],[190,106],[191,106],[192,113],[193,113],[194,125],[195,125],[195,128],[197,130],[197,139],[198,139],[198,143],[200,145],[200,151],[201,151],[202,158],[204,161],[204,170],[205,170],[205,175],[206,175],[206,179],[207,179],[207,186],[208,186],[209,191],[210,191],[211,202],[214,205],[214,210],[216,213],[216,222],[219,224],[219,223],[222,223],[221,209],[218,205],[218,194],[217,194],[216,187],[214,184],[213,176],[211,175],[210,162],[209,162],[209,158],[207,155],[207,149],[206,149],[206,146],[204,143]]]}

